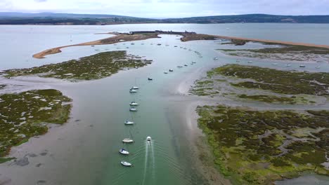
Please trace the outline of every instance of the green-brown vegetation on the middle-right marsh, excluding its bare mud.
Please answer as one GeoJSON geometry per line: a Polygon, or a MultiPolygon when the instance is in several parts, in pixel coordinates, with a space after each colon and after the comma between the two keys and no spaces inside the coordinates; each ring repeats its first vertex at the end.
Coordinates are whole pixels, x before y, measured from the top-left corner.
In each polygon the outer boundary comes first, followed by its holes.
{"type": "Polygon", "coordinates": [[[289,95],[329,95],[329,73],[280,71],[228,64],[209,71],[208,74],[209,76],[221,74],[246,79],[246,81],[232,84],[243,88],[259,88],[289,95]]]}

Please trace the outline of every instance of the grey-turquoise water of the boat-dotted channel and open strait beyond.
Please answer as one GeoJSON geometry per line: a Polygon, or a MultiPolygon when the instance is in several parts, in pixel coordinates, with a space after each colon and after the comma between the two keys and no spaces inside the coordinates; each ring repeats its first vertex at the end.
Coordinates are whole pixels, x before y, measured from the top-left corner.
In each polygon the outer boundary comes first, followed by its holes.
{"type": "MultiPolygon", "coordinates": [[[[329,44],[329,36],[323,31],[328,28],[328,25],[293,24],[1,26],[0,41],[8,43],[1,46],[1,50],[4,50],[1,53],[1,69],[62,62],[108,50],[127,50],[130,54],[153,60],[153,64],[147,67],[121,71],[110,78],[97,81],[46,83],[47,88],[61,90],[74,100],[70,122],[63,126],[58,139],[47,143],[49,146],[46,149],[53,156],[46,158],[42,167],[34,167],[35,163],[39,163],[37,157],[30,159],[31,164],[26,170],[21,168],[15,171],[15,167],[8,167],[1,174],[8,176],[16,172],[12,177],[14,184],[36,184],[38,180],[48,181],[49,184],[207,184],[198,170],[195,170],[198,166],[195,166],[195,156],[191,154],[191,132],[188,132],[188,126],[184,123],[184,109],[189,100],[176,94],[176,83],[198,69],[236,62],[236,57],[224,56],[214,50],[223,47],[217,41],[181,43],[177,36],[162,36],[162,39],[136,41],[135,45],[120,43],[116,46],[65,48],[63,53],[49,55],[46,59],[33,59],[32,54],[40,50],[107,36],[94,35],[96,32],[150,29],[188,30],[256,39],[285,40],[289,37],[289,41],[321,41],[321,44],[329,44]],[[275,27],[280,29],[273,34],[275,27]],[[305,29],[301,29],[302,27],[305,29]],[[316,36],[311,36],[314,34],[316,36]],[[317,36],[322,39],[316,39],[317,36]],[[159,42],[162,46],[156,45],[159,42]],[[202,57],[198,57],[194,50],[200,52],[202,57]],[[214,61],[214,57],[219,57],[219,60],[214,61]],[[191,61],[197,63],[191,65],[191,61]],[[183,64],[188,64],[188,67],[176,68],[183,64]],[[174,69],[174,72],[163,74],[168,69],[174,69]],[[148,77],[154,80],[147,81],[148,77]],[[141,88],[134,95],[129,93],[132,85],[141,88]],[[140,103],[136,113],[129,113],[131,101],[140,103]],[[131,118],[136,124],[124,125],[127,118],[131,118]],[[129,136],[134,138],[135,143],[122,144],[122,139],[129,136]],[[146,142],[147,136],[153,138],[150,144],[146,142]],[[121,148],[126,148],[131,155],[120,155],[118,151],[121,148]],[[134,167],[123,167],[120,160],[127,160],[134,167]]],[[[241,64],[247,64],[247,60],[241,60],[241,64]]],[[[271,62],[264,60],[254,60],[252,64],[273,67],[271,62]]],[[[307,69],[329,71],[328,64],[321,64],[321,69],[315,69],[316,65],[318,64],[309,64],[307,69]]],[[[301,70],[298,66],[298,63],[292,64],[291,69],[301,70]]],[[[278,62],[275,67],[285,69],[285,62],[278,62]]],[[[193,125],[193,128],[196,127],[197,125],[193,125]]],[[[307,179],[312,183],[318,177],[311,176],[307,179]]],[[[286,182],[289,181],[284,181],[286,182]]],[[[322,184],[325,183],[326,181],[322,184]]]]}

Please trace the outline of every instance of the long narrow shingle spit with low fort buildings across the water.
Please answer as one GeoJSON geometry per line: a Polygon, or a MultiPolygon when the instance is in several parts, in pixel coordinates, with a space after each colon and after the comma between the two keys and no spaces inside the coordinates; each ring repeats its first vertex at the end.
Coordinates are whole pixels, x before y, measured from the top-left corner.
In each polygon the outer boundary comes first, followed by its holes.
{"type": "Polygon", "coordinates": [[[90,41],[85,43],[77,43],[73,45],[67,45],[67,46],[59,46],[56,48],[50,48],[47,50],[43,50],[39,53],[35,53],[32,55],[34,58],[42,59],[46,55],[53,55],[56,53],[61,53],[63,48],[68,48],[72,46],[93,46],[93,45],[107,45],[107,44],[113,44],[113,43],[120,43],[120,42],[126,42],[126,41],[142,41],[146,39],[155,39],[160,38],[159,34],[176,34],[183,36],[181,38],[181,41],[187,42],[187,41],[200,41],[200,40],[217,40],[217,39],[234,39],[239,41],[254,41],[254,42],[261,42],[261,43],[274,43],[274,44],[280,44],[280,45],[290,45],[290,46],[308,46],[308,47],[315,47],[315,48],[328,48],[328,45],[318,45],[313,43],[296,43],[296,42],[289,42],[289,41],[273,41],[273,40],[267,40],[267,39],[248,39],[243,37],[235,37],[235,36],[218,36],[218,35],[208,35],[208,34],[195,34],[195,33],[184,33],[184,32],[148,32],[147,34],[119,34],[119,33],[98,33],[98,34],[114,34],[115,36],[111,36],[105,39],[100,39],[96,41],[90,41]]]}

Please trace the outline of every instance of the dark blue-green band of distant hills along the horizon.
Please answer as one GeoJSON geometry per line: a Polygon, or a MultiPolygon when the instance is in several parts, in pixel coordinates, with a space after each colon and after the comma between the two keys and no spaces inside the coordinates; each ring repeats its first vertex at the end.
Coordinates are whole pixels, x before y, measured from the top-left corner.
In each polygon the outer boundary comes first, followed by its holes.
{"type": "Polygon", "coordinates": [[[0,13],[0,25],[115,25],[135,23],[329,23],[329,15],[219,15],[193,18],[150,19],[123,15],[73,13],[0,13]]]}

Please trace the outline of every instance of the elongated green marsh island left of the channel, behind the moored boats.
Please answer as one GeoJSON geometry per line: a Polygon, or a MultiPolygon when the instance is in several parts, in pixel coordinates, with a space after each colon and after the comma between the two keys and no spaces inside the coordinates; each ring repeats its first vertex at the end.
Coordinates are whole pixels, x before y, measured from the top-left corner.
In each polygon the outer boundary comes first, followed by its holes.
{"type": "Polygon", "coordinates": [[[75,80],[94,80],[116,74],[120,70],[134,69],[150,64],[151,60],[127,55],[125,50],[109,51],[69,60],[57,64],[46,64],[29,69],[6,70],[7,76],[24,76],[36,74],[41,77],[75,80]]]}

